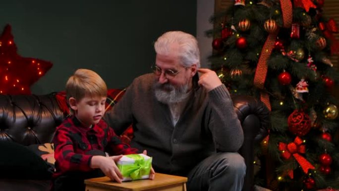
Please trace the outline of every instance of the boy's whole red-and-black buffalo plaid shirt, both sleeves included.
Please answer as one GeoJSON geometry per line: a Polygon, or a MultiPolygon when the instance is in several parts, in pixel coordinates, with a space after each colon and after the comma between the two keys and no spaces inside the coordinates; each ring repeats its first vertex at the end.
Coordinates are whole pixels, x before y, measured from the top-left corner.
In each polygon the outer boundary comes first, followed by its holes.
{"type": "Polygon", "coordinates": [[[56,172],[54,178],[70,171],[88,172],[93,155],[91,150],[106,151],[110,155],[134,154],[137,149],[123,143],[103,120],[92,128],[84,127],[74,116],[65,119],[56,128],[54,157],[56,172]]]}

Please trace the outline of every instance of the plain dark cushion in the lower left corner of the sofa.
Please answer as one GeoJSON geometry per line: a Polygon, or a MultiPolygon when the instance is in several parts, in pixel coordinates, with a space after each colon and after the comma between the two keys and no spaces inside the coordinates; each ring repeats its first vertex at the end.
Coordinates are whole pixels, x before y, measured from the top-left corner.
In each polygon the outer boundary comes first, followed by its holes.
{"type": "Polygon", "coordinates": [[[52,173],[47,163],[26,146],[0,141],[0,178],[50,179],[52,173]]]}

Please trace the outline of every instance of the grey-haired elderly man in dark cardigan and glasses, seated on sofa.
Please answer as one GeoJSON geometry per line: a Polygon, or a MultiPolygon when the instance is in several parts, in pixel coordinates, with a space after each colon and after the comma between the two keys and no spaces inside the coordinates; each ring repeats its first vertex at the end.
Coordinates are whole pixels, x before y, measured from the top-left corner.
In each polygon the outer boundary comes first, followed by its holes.
{"type": "Polygon", "coordinates": [[[148,151],[156,172],[188,177],[188,191],[241,191],[243,132],[225,85],[199,68],[192,35],[170,31],[154,47],[154,72],[137,77],[106,120],[117,133],[133,124],[131,146],[148,151]]]}

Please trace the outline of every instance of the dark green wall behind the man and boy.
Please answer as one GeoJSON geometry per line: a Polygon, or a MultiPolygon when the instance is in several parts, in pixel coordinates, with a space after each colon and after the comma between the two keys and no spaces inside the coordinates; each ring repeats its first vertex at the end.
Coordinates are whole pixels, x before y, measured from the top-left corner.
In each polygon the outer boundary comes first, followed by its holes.
{"type": "Polygon", "coordinates": [[[23,57],[52,62],[34,94],[63,90],[77,68],[122,88],[150,71],[154,41],[169,30],[196,33],[196,0],[2,0],[0,30],[12,26],[23,57]]]}

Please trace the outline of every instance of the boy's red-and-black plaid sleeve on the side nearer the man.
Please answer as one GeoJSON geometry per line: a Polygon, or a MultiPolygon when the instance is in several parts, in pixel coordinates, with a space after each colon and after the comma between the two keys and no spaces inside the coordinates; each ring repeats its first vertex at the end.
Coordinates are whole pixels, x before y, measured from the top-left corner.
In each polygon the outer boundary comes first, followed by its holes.
{"type": "Polygon", "coordinates": [[[111,155],[126,155],[136,154],[138,149],[130,147],[129,144],[121,141],[120,137],[117,136],[112,127],[108,127],[108,149],[111,155]]]}

